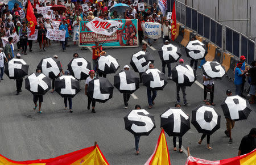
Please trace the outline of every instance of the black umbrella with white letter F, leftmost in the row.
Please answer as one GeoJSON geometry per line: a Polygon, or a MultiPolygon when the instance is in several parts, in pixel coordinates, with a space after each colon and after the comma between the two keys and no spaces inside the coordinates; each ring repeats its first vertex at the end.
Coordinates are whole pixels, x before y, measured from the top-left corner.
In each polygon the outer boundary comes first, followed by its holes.
{"type": "Polygon", "coordinates": [[[23,59],[13,58],[5,64],[5,74],[10,79],[21,79],[28,74],[28,67],[23,59]]]}

